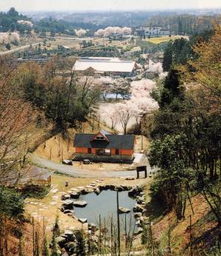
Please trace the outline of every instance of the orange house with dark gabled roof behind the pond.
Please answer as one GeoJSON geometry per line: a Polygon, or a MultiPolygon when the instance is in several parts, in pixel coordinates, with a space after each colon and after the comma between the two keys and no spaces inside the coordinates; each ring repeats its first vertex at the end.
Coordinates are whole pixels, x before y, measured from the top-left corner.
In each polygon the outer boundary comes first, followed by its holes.
{"type": "Polygon", "coordinates": [[[74,138],[74,160],[132,163],[134,142],[134,135],[116,135],[105,130],[97,134],[77,133],[74,138]]]}

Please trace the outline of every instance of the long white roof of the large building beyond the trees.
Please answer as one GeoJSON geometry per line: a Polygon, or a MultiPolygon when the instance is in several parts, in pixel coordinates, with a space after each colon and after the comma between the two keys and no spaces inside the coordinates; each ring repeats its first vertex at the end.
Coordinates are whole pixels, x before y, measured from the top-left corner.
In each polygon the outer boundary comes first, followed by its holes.
{"type": "Polygon", "coordinates": [[[119,58],[80,58],[73,67],[76,71],[85,71],[92,68],[97,72],[132,72],[136,68],[135,61],[121,60],[119,58]]]}

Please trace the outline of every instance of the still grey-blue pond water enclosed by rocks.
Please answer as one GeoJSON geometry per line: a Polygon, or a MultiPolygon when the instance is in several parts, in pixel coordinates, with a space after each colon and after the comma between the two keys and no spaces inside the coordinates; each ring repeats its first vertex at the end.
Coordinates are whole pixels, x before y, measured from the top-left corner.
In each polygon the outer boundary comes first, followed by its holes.
{"type": "MultiPolygon", "coordinates": [[[[94,223],[98,226],[100,215],[102,225],[105,221],[106,225],[110,226],[111,218],[113,218],[113,223],[116,224],[116,191],[108,189],[103,190],[99,195],[96,195],[94,193],[80,195],[79,200],[86,201],[88,205],[84,208],[74,207],[74,212],[77,218],[87,218],[88,223],[94,223]]],[[[130,198],[127,191],[119,192],[119,207],[131,210],[130,213],[119,215],[122,226],[124,226],[126,215],[127,229],[133,229],[135,227],[136,219],[133,216],[133,206],[135,205],[135,203],[135,198],[130,198]]]]}

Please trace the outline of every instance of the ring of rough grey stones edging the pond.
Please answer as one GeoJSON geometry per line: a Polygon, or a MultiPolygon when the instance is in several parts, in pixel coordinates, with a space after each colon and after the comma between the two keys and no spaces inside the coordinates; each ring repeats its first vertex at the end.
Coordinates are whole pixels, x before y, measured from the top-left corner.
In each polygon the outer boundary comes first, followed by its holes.
{"type": "MultiPolygon", "coordinates": [[[[99,182],[98,180],[97,182],[99,182]]],[[[142,226],[146,218],[144,217],[145,209],[145,194],[143,192],[144,186],[115,186],[115,185],[97,185],[97,183],[92,182],[88,186],[78,186],[77,188],[71,189],[68,194],[62,195],[61,200],[63,201],[62,206],[60,207],[61,212],[75,220],[80,221],[80,223],[87,223],[87,219],[77,218],[74,215],[73,207],[85,207],[87,202],[85,201],[72,201],[71,199],[78,199],[80,195],[87,195],[88,193],[94,192],[96,195],[99,195],[103,190],[114,190],[114,191],[128,191],[128,196],[134,197],[136,199],[136,204],[133,206],[134,218],[136,219],[136,225],[138,229],[135,235],[141,234],[143,232],[142,226]]],[[[124,209],[119,207],[119,214],[128,213],[129,209],[124,209]]],[[[88,224],[89,226],[90,224],[88,224]]],[[[91,223],[91,225],[94,225],[91,223]]]]}

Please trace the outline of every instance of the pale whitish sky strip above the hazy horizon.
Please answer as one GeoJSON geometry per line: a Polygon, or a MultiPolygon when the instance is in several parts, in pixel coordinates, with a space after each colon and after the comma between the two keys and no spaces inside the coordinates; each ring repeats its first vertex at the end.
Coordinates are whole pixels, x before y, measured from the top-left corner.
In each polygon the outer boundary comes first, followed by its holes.
{"type": "Polygon", "coordinates": [[[221,0],[0,0],[0,11],[168,10],[221,7],[221,0]]]}

